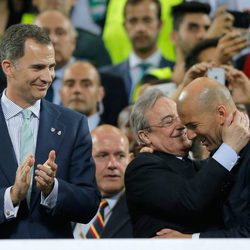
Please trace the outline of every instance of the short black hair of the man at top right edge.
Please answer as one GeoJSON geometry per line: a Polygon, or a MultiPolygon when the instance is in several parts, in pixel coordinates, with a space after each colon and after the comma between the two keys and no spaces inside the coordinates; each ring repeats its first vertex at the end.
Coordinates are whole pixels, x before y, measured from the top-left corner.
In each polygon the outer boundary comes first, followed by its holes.
{"type": "Polygon", "coordinates": [[[209,15],[211,7],[207,3],[200,3],[196,1],[183,2],[181,4],[175,5],[171,9],[171,14],[173,16],[173,28],[178,30],[181,22],[186,14],[193,13],[204,13],[209,15]]]}

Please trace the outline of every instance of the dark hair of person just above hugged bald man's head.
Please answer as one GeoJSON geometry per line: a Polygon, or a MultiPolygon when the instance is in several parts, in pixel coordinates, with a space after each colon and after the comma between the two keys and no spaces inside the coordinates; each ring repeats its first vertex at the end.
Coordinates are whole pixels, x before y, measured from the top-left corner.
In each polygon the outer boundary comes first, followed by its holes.
{"type": "Polygon", "coordinates": [[[185,60],[186,70],[190,69],[196,63],[199,63],[198,57],[203,50],[215,48],[219,42],[219,38],[206,39],[199,42],[187,55],[185,60]]]}

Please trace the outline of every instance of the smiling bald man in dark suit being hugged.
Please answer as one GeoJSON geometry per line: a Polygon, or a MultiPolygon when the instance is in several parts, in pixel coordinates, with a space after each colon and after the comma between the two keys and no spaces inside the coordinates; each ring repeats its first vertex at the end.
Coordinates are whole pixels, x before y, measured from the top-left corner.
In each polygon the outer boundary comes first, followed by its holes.
{"type": "MultiPolygon", "coordinates": [[[[210,152],[220,147],[223,141],[222,126],[236,110],[229,90],[207,77],[191,82],[178,100],[178,113],[187,127],[189,139],[197,137],[210,152]]],[[[244,120],[241,122],[244,123],[244,120]]],[[[233,185],[222,207],[223,230],[206,230],[200,237],[250,237],[249,143],[239,152],[239,156],[238,164],[233,169],[233,185]]]]}

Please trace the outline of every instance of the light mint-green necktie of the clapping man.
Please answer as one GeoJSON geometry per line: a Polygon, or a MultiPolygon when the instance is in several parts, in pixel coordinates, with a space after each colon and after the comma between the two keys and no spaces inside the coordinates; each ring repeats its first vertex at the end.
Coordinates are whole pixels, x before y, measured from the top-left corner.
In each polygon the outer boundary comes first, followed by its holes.
{"type": "MultiPolygon", "coordinates": [[[[26,157],[28,155],[31,155],[31,154],[34,155],[34,151],[35,151],[34,138],[33,138],[33,134],[32,134],[31,127],[30,127],[31,114],[32,114],[32,112],[28,109],[24,109],[22,111],[23,124],[22,124],[21,132],[20,132],[20,159],[21,159],[21,163],[24,162],[24,160],[26,159],[26,157]]],[[[31,190],[32,190],[33,166],[30,169],[30,176],[31,176],[30,186],[29,186],[29,190],[28,190],[28,193],[26,196],[28,205],[30,203],[31,190]]]]}

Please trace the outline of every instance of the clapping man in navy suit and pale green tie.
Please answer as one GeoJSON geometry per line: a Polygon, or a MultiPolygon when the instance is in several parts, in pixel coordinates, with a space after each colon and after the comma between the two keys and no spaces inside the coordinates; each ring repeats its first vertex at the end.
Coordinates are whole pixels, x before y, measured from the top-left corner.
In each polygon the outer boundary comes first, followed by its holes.
{"type": "Polygon", "coordinates": [[[72,238],[71,221],[90,221],[100,199],[86,118],[42,99],[55,67],[45,31],[12,26],[0,51],[0,237],[72,238]]]}

